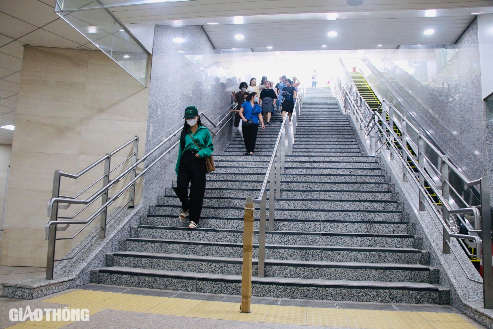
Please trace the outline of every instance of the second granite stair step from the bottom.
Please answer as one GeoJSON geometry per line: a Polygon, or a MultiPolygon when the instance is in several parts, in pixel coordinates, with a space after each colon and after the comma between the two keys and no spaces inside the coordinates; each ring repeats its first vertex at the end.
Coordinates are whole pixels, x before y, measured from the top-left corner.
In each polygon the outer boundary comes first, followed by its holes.
{"type": "MultiPolygon", "coordinates": [[[[106,255],[106,266],[195,273],[242,275],[242,258],[117,252],[106,255]]],[[[349,281],[420,282],[438,284],[438,269],[421,264],[357,263],[265,259],[266,277],[349,281]]],[[[252,261],[258,275],[258,259],[252,261]]]]}

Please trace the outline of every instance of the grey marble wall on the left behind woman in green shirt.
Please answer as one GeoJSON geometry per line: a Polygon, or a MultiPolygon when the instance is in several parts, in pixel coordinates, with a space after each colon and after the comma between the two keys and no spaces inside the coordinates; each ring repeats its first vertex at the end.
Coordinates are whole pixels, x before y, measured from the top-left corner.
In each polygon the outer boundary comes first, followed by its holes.
{"type": "MultiPolygon", "coordinates": [[[[226,70],[218,63],[209,37],[200,26],[156,25],[151,68],[149,108],[147,116],[146,151],[161,143],[170,134],[183,126],[183,111],[195,105],[213,122],[227,114],[232,103],[231,93],[226,91],[226,70]],[[183,42],[175,42],[182,38],[183,42]]],[[[235,85],[236,86],[236,85],[235,85]]],[[[236,90],[236,89],[235,89],[236,90]]],[[[212,124],[205,119],[208,127],[212,124]]],[[[233,132],[232,122],[216,137],[213,137],[214,154],[222,152],[233,132]]],[[[178,140],[175,136],[170,143],[162,146],[168,149],[178,140]]],[[[157,158],[162,151],[146,160],[146,165],[157,158]]],[[[144,177],[143,204],[152,205],[165,188],[176,180],[175,164],[177,147],[151,168],[144,177]]]]}

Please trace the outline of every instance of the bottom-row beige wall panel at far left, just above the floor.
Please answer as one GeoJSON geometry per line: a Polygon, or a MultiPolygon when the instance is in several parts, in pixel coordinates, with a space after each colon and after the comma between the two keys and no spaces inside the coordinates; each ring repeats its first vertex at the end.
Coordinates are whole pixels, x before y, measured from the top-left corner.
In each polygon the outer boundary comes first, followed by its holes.
{"type": "MultiPolygon", "coordinates": [[[[44,240],[44,228],[6,227],[1,233],[9,239],[3,238],[0,265],[46,266],[48,241],[44,240]]],[[[69,241],[58,241],[56,258],[64,256],[69,250],[69,241]]]]}

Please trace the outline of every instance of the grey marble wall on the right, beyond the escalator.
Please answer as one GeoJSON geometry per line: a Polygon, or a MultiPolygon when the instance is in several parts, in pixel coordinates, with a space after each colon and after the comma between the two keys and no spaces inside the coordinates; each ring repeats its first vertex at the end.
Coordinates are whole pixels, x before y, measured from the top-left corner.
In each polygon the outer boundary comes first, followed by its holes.
{"type": "Polygon", "coordinates": [[[388,82],[411,102],[423,128],[471,179],[487,174],[493,144],[487,143],[476,18],[455,44],[399,49],[372,62],[389,74],[388,82]]]}

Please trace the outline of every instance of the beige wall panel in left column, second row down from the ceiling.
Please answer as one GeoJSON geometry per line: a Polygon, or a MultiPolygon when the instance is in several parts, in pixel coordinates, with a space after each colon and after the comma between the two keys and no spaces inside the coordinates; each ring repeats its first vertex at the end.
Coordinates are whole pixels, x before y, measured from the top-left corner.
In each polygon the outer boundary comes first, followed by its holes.
{"type": "Polygon", "coordinates": [[[83,117],[84,88],[81,82],[22,79],[17,114],[83,117]]]}

